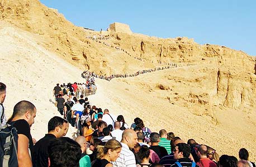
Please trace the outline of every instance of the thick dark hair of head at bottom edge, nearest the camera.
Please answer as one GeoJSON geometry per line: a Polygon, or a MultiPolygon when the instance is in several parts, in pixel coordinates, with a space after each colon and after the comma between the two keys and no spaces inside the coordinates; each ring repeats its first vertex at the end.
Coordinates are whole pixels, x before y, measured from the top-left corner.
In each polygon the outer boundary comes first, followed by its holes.
{"type": "Polygon", "coordinates": [[[51,140],[48,153],[50,167],[78,167],[82,150],[76,141],[69,137],[60,137],[51,140]]]}

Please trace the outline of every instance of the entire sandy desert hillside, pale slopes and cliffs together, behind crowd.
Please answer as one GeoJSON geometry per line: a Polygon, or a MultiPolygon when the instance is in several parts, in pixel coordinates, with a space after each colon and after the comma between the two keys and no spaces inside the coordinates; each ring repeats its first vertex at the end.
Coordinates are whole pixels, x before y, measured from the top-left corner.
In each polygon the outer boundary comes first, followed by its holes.
{"type": "Polygon", "coordinates": [[[38,114],[32,134],[37,139],[49,118],[58,115],[52,102],[56,82],[83,81],[83,70],[110,75],[189,63],[193,66],[97,80],[97,94],[90,99],[129,123],[140,116],[154,131],[164,127],[184,140],[193,137],[220,154],[238,156],[245,147],[256,158],[254,57],[186,37],[111,32],[106,40],[92,40],[88,37],[100,32],[76,27],[34,0],[1,1],[0,11],[0,80],[8,86],[4,105],[10,115],[19,100],[34,102],[38,114]]]}

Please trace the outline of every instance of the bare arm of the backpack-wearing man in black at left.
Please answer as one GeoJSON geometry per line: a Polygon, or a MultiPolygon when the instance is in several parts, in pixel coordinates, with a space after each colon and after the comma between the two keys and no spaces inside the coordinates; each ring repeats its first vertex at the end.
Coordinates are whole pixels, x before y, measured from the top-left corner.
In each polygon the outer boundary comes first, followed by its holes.
{"type": "Polygon", "coordinates": [[[18,166],[32,167],[32,161],[29,155],[29,139],[27,136],[18,134],[18,166]]]}

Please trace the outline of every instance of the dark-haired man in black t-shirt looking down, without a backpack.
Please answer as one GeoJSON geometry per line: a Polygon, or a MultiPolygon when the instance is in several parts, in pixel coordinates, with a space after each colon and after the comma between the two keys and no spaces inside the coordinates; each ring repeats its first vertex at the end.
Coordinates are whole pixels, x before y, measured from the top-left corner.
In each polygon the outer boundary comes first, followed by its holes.
{"type": "Polygon", "coordinates": [[[48,122],[48,134],[37,141],[32,154],[33,166],[48,166],[48,146],[50,139],[63,137],[68,129],[68,121],[59,116],[54,116],[48,122]]]}

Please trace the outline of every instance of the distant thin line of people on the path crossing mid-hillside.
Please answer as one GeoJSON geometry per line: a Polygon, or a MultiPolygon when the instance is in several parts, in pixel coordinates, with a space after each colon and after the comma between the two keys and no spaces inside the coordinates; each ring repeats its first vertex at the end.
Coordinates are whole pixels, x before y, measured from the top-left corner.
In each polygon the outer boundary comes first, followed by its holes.
{"type": "Polygon", "coordinates": [[[167,63],[167,66],[164,66],[164,67],[157,67],[157,68],[152,68],[152,69],[148,69],[148,70],[140,70],[140,71],[137,71],[137,72],[132,73],[132,74],[112,74],[110,76],[98,75],[95,72],[90,72],[90,71],[86,70],[81,74],[81,76],[83,78],[96,77],[96,78],[100,78],[102,80],[111,81],[113,78],[135,77],[135,76],[138,76],[138,75],[141,75],[141,74],[144,74],[144,73],[155,72],[155,71],[159,71],[159,70],[166,70],[166,69],[169,69],[169,68],[176,68],[176,67],[178,67],[177,63],[167,63]]]}

